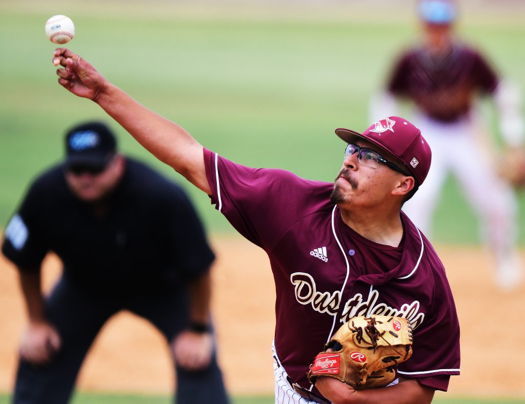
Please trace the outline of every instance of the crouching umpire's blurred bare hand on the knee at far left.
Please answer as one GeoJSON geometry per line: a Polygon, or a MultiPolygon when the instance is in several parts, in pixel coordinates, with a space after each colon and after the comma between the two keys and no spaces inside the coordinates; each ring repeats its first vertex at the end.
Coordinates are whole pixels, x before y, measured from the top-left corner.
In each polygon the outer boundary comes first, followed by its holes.
{"type": "Polygon", "coordinates": [[[34,365],[47,364],[60,349],[57,330],[46,322],[31,322],[22,335],[20,357],[34,365]]]}

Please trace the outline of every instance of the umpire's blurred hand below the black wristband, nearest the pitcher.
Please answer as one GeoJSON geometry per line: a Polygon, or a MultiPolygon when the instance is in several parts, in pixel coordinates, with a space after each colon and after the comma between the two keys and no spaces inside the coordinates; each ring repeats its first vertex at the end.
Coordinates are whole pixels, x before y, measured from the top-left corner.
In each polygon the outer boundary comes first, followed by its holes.
{"type": "Polygon", "coordinates": [[[200,370],[212,360],[213,338],[210,333],[183,331],[174,339],[172,349],[178,366],[186,370],[200,370]]]}

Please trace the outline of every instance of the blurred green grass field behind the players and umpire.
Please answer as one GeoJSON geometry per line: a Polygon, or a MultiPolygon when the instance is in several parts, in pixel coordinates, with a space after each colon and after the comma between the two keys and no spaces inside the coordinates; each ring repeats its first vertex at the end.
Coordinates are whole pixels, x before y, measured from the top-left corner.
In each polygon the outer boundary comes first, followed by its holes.
{"type": "MultiPolygon", "coordinates": [[[[51,4],[0,3],[0,224],[29,180],[61,158],[69,126],[108,120],[97,105],[56,83],[50,61],[55,46],[44,34],[45,20],[58,13],[51,4]]],[[[367,100],[380,88],[391,59],[416,40],[418,30],[410,14],[392,15],[390,9],[366,9],[361,3],[353,9],[351,2],[262,12],[255,6],[122,4],[72,1],[61,6],[60,13],[76,23],[70,48],[213,151],[242,164],[281,167],[327,181],[337,174],[343,151],[333,130],[367,126],[367,100]]],[[[460,25],[461,33],[525,88],[525,54],[517,51],[525,35],[523,12],[475,11],[460,25]]],[[[111,125],[124,152],[190,190],[209,230],[232,231],[207,196],[111,125]]],[[[479,241],[474,214],[453,180],[446,184],[436,223],[435,241],[479,241]]],[[[520,224],[525,224],[523,215],[520,224]]],[[[520,237],[523,243],[525,236],[520,237]]]]}

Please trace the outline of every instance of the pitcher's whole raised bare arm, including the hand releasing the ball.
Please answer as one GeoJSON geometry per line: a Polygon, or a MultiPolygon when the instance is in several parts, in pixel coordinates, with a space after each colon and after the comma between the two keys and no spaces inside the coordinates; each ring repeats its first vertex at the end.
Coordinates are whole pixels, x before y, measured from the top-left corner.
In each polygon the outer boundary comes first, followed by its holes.
{"type": "Polygon", "coordinates": [[[97,104],[146,150],[173,167],[197,188],[211,194],[204,167],[203,146],[184,128],[145,108],[106,80],[93,66],[69,49],[55,50],[58,82],[78,97],[97,104]]]}

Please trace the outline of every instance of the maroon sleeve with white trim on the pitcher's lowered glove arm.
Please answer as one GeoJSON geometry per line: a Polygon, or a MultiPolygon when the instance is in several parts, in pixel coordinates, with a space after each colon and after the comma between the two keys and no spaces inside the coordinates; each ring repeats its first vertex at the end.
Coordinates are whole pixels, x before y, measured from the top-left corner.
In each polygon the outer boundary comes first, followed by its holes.
{"type": "Polygon", "coordinates": [[[412,357],[399,366],[398,374],[446,391],[450,376],[459,375],[460,371],[459,321],[443,264],[436,263],[433,271],[431,309],[415,329],[412,357]]]}

